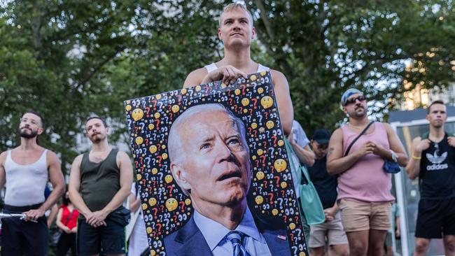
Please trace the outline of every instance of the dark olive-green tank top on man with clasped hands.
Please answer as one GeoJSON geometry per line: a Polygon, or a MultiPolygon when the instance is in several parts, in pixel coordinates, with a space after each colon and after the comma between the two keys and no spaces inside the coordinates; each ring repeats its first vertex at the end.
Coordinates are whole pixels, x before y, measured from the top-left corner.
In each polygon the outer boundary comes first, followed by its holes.
{"type": "MultiPolygon", "coordinates": [[[[118,150],[111,150],[102,162],[90,162],[85,153],[80,163],[80,196],[90,211],[102,210],[120,190],[120,169],[117,166],[118,150]]],[[[83,218],[82,214],[79,215],[83,218]]]]}

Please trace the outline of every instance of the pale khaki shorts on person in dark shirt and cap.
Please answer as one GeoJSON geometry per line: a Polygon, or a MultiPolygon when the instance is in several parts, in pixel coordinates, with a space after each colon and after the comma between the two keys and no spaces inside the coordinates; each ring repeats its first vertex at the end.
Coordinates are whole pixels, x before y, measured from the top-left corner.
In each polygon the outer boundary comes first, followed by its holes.
{"type": "Polygon", "coordinates": [[[343,230],[341,213],[335,215],[335,219],[318,225],[309,226],[309,248],[325,247],[325,236],[329,246],[347,244],[348,239],[343,230]]]}

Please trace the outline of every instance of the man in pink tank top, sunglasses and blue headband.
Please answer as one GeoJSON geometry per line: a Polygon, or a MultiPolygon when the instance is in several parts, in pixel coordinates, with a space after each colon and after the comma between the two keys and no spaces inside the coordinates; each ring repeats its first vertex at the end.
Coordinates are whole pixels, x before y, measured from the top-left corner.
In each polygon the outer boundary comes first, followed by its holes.
{"type": "Polygon", "coordinates": [[[407,155],[390,125],[368,120],[362,92],[346,90],[341,105],[349,122],[330,137],[327,171],[339,174],[337,204],[349,251],[351,255],[383,255],[394,201],[391,174],[384,171],[384,161],[405,166],[407,155]]]}

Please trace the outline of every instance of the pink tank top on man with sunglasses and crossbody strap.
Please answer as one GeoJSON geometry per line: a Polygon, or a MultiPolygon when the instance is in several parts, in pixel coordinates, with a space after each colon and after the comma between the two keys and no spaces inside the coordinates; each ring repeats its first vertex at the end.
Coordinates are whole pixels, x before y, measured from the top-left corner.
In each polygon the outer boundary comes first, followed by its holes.
{"type": "MultiPolygon", "coordinates": [[[[356,152],[363,143],[372,141],[389,149],[388,136],[384,124],[374,122],[374,131],[371,134],[363,134],[353,143],[349,155],[356,152]]],[[[347,125],[342,126],[343,152],[358,134],[347,125]]],[[[356,164],[339,174],[337,199],[354,199],[367,202],[393,201],[391,194],[391,174],[386,173],[382,166],[384,159],[379,155],[369,154],[360,158],[356,164]]]]}

